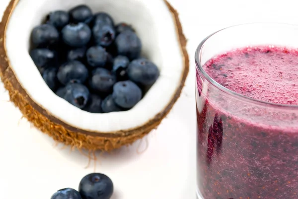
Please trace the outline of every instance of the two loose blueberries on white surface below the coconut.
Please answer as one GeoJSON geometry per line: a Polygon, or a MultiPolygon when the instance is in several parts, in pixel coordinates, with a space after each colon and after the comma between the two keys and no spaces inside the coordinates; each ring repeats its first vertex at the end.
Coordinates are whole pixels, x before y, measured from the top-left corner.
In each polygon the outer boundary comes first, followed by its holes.
{"type": "Polygon", "coordinates": [[[82,178],[78,191],[72,188],[58,190],[51,199],[110,199],[114,191],[112,180],[100,173],[91,173],[82,178]]]}

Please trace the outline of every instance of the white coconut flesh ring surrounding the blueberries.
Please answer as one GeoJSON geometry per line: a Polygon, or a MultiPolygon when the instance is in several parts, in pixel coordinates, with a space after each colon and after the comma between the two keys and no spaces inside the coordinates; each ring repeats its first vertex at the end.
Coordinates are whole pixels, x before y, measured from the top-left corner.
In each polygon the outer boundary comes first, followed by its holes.
{"type": "Polygon", "coordinates": [[[64,123],[91,132],[111,133],[146,124],[167,107],[184,71],[176,24],[163,0],[20,0],[5,36],[10,67],[30,98],[64,123]],[[29,56],[32,29],[49,12],[69,10],[78,4],[90,6],[93,13],[111,14],[115,23],[132,24],[143,43],[142,54],[160,70],[154,85],[129,111],[94,114],[76,108],[50,90],[29,56]]]}

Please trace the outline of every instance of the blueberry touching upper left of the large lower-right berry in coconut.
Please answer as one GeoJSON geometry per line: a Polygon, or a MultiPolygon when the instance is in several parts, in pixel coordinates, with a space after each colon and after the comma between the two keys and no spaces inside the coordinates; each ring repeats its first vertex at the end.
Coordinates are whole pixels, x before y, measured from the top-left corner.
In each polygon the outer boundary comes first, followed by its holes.
{"type": "Polygon", "coordinates": [[[92,71],[90,78],[90,87],[98,93],[110,93],[113,85],[116,83],[116,76],[105,68],[96,68],[92,71]]]}

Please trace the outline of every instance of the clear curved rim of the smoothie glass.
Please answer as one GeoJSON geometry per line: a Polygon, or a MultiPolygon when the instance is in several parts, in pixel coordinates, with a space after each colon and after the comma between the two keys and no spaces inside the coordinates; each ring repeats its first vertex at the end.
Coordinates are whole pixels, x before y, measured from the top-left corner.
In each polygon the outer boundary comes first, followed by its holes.
{"type": "Polygon", "coordinates": [[[247,97],[245,95],[239,94],[237,92],[234,92],[226,87],[224,87],[223,85],[221,85],[220,83],[218,83],[216,80],[214,80],[211,76],[209,76],[209,74],[207,74],[207,72],[204,70],[203,66],[201,65],[201,58],[200,58],[200,53],[202,51],[202,48],[204,47],[204,44],[208,41],[208,39],[210,39],[213,35],[216,35],[217,33],[224,31],[225,29],[229,29],[229,28],[233,28],[233,27],[238,27],[238,26],[246,26],[246,25],[260,25],[260,24],[267,24],[267,25],[288,25],[288,26],[295,26],[298,27],[298,25],[295,24],[288,24],[288,23],[264,23],[264,22],[260,22],[260,23],[243,23],[243,24],[237,24],[237,25],[232,25],[232,26],[228,26],[225,27],[223,29],[220,29],[212,34],[210,34],[209,36],[207,36],[205,39],[203,39],[203,41],[199,44],[199,46],[197,47],[197,50],[195,52],[195,62],[196,62],[196,69],[198,69],[204,76],[204,78],[207,79],[207,81],[209,83],[211,83],[212,85],[214,85],[217,89],[223,91],[224,93],[227,93],[229,95],[232,95],[233,97],[236,98],[240,98],[241,100],[245,100],[247,102],[252,102],[252,103],[257,103],[263,106],[271,106],[271,107],[276,107],[276,108],[283,108],[283,109],[298,109],[298,105],[290,105],[290,104],[276,104],[276,103],[271,103],[271,102],[265,102],[262,100],[258,100],[258,99],[254,99],[251,97],[247,97]]]}

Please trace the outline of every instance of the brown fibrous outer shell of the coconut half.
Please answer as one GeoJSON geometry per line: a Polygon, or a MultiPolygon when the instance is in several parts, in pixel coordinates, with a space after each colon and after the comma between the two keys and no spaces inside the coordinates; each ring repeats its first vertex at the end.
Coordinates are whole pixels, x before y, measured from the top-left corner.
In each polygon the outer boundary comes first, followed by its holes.
{"type": "Polygon", "coordinates": [[[0,23],[0,77],[5,88],[9,92],[10,101],[20,109],[23,116],[27,118],[28,121],[34,124],[34,126],[43,133],[47,133],[53,137],[54,140],[63,142],[66,145],[88,150],[110,151],[120,148],[123,145],[131,144],[137,139],[144,137],[151,130],[156,128],[179,98],[189,70],[189,57],[186,51],[186,39],[182,31],[178,12],[164,0],[172,13],[174,22],[176,23],[177,36],[181,46],[181,53],[184,58],[184,71],[181,76],[180,86],[176,89],[175,95],[167,107],[157,114],[154,119],[149,120],[143,126],[131,130],[111,133],[89,132],[77,129],[53,117],[47,110],[40,107],[27,95],[24,88],[18,82],[7,58],[5,49],[5,30],[9,23],[10,14],[13,12],[18,1],[19,0],[11,0],[9,2],[3,14],[2,22],[0,23]]]}

